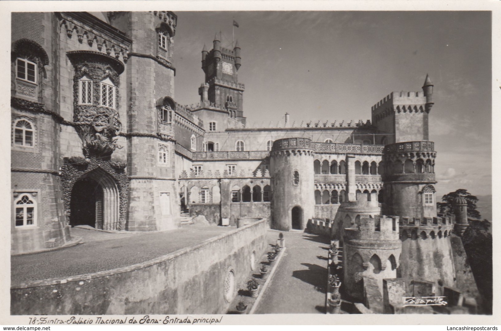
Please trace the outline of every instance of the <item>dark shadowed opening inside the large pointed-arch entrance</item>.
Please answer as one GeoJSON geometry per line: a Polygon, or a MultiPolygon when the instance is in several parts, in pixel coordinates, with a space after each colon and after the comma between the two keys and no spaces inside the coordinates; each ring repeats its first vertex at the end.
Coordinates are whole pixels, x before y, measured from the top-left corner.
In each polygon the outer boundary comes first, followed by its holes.
{"type": "Polygon", "coordinates": [[[92,178],[83,178],[73,186],[70,225],[103,228],[103,188],[92,178]]]}

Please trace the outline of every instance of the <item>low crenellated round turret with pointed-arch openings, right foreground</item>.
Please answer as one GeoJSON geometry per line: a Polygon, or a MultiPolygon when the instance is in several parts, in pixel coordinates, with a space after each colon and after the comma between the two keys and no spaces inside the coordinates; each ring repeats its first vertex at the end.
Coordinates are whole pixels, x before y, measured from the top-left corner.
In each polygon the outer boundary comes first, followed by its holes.
{"type": "Polygon", "coordinates": [[[397,277],[398,237],[398,217],[394,216],[363,215],[344,229],[344,285],[353,299],[362,301],[364,285],[370,284],[376,284],[382,296],[383,279],[397,277]]]}

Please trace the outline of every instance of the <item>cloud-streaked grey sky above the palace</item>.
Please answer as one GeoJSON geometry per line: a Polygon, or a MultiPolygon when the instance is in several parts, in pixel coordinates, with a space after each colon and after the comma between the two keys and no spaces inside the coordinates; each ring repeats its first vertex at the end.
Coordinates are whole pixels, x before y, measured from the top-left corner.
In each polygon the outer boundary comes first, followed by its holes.
{"type": "Polygon", "coordinates": [[[434,84],[437,198],[491,194],[491,15],[477,12],[180,12],[174,99],[195,104],[201,50],[241,48],[247,123],[369,120],[392,91],[434,84]]]}

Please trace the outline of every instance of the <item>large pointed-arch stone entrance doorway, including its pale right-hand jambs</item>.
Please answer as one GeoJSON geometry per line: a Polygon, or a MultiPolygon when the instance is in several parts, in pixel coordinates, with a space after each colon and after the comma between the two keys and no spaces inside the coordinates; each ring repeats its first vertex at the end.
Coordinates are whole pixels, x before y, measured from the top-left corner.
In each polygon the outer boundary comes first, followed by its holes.
{"type": "Polygon", "coordinates": [[[118,230],[120,201],[115,180],[102,169],[82,176],[71,192],[70,225],[118,230]]]}

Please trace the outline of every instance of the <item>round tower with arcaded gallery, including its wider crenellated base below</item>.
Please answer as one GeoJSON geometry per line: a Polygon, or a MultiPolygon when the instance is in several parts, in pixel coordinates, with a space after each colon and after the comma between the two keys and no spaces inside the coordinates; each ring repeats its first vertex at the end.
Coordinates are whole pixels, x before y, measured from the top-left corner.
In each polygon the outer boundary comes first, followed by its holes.
{"type": "Polygon", "coordinates": [[[431,141],[409,141],[387,145],[385,165],[385,215],[400,217],[402,257],[399,276],[411,280],[454,285],[450,245],[450,217],[436,217],[434,164],[431,141]]]}

